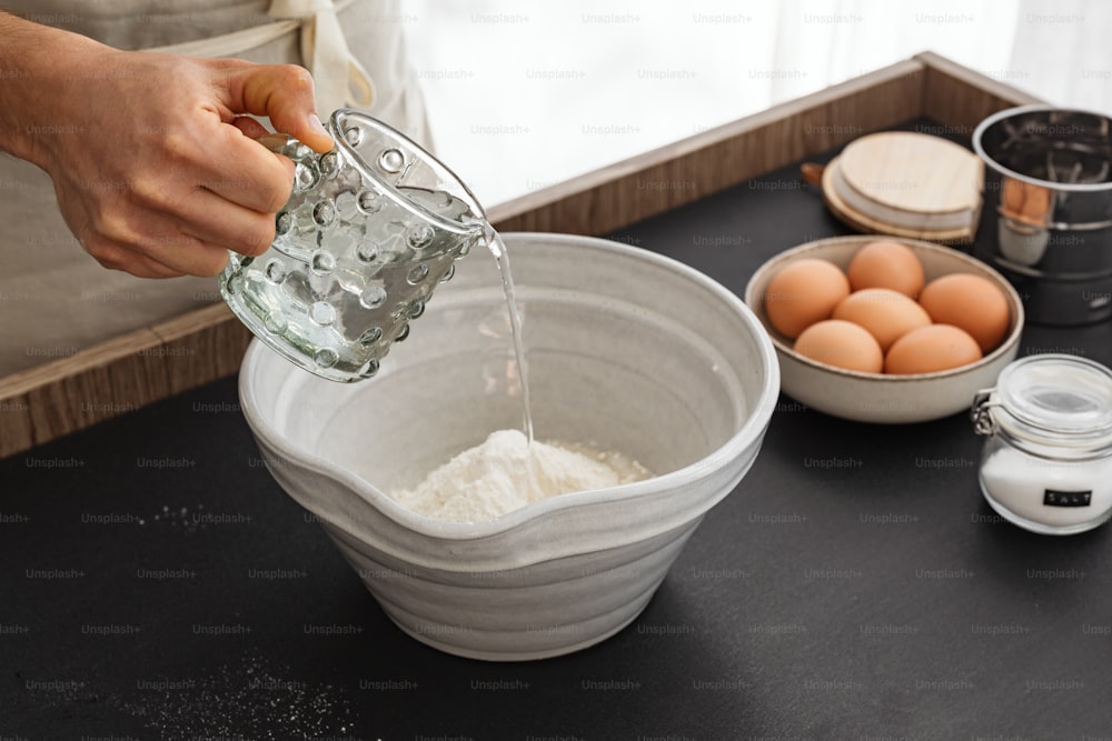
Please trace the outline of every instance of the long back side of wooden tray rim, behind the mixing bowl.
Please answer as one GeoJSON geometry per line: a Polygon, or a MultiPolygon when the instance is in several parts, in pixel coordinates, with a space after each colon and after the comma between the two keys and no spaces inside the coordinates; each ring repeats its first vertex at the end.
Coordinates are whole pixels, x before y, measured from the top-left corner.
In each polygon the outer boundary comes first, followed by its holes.
{"type": "Polygon", "coordinates": [[[896,62],[497,204],[489,217],[505,231],[612,233],[919,116],[924,72],[919,60],[896,62]]]}

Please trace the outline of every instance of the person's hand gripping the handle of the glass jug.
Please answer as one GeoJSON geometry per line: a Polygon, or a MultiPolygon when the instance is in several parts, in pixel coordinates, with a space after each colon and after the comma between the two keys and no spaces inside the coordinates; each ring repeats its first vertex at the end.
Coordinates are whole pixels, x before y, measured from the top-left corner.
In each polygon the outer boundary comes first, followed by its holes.
{"type": "Polygon", "coordinates": [[[81,46],[75,64],[54,61],[52,84],[38,81],[23,128],[82,247],[150,278],[214,276],[228,250],[264,252],[294,166],[252,141],[266,130],[242,114],[328,151],[308,72],[81,46]]]}

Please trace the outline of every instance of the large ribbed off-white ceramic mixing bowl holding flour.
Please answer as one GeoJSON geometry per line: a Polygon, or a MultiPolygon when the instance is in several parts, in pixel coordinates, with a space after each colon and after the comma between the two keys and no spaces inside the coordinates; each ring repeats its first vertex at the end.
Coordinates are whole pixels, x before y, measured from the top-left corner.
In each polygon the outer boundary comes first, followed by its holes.
{"type": "Polygon", "coordinates": [[[459,263],[375,378],[332,383],[255,342],[240,397],[271,473],[403,630],[455,654],[525,660],[636,618],[753,463],[780,374],[748,308],[695,270],[599,239],[505,238],[537,438],[620,451],[655,478],[470,524],[386,493],[520,428],[508,312],[485,251],[459,263]]]}

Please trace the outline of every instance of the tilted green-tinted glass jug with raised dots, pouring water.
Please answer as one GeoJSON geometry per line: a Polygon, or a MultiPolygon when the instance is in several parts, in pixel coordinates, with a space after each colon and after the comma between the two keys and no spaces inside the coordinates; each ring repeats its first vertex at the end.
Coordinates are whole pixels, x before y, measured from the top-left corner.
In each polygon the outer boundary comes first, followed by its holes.
{"type": "Polygon", "coordinates": [[[369,378],[409,334],[455,260],[485,233],[483,209],[447,168],[390,127],[341,109],[336,148],[259,141],[295,163],[275,240],[232,252],[220,293],[261,341],[324,378],[369,378]]]}

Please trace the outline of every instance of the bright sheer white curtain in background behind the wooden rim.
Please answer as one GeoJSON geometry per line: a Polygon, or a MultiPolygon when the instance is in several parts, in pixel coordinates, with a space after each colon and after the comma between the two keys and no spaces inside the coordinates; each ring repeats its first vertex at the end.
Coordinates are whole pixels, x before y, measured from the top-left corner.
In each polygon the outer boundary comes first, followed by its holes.
{"type": "Polygon", "coordinates": [[[1112,110],[1109,0],[404,0],[439,156],[488,206],[935,51],[1112,110]]]}

